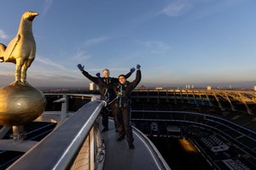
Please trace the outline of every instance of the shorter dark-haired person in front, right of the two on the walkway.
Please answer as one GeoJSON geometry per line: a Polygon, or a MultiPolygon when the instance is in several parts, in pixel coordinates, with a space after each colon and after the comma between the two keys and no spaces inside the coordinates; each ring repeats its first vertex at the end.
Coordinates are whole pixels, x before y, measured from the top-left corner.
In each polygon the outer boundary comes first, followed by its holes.
{"type": "Polygon", "coordinates": [[[120,75],[119,82],[113,86],[113,91],[117,95],[113,107],[113,112],[115,112],[114,115],[116,116],[117,130],[119,132],[117,141],[125,139],[126,136],[131,150],[134,149],[134,139],[131,128],[131,92],[141,81],[142,74],[140,68],[141,65],[137,65],[136,78],[133,82],[126,81],[125,75],[120,75]]]}

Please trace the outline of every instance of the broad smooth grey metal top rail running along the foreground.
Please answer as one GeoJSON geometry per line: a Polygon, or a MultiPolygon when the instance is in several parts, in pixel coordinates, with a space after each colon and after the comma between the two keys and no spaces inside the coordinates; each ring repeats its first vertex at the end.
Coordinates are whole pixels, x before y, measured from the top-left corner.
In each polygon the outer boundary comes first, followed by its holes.
{"type": "Polygon", "coordinates": [[[105,104],[103,100],[96,100],[81,107],[8,169],[43,170],[71,167],[105,104]]]}

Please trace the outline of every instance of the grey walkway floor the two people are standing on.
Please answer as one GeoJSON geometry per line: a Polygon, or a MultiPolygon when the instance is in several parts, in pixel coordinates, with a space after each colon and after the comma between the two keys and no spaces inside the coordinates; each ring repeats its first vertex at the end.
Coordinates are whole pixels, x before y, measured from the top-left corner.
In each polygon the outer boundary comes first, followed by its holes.
{"type": "MultiPolygon", "coordinates": [[[[103,169],[105,170],[154,170],[154,169],[170,169],[165,162],[162,164],[160,160],[155,158],[158,154],[157,150],[148,145],[147,139],[137,129],[133,128],[133,138],[135,149],[130,150],[127,141],[124,139],[117,142],[118,133],[115,132],[113,120],[109,120],[109,130],[102,133],[104,144],[106,147],[106,156],[103,169]]],[[[151,143],[152,144],[152,143],[151,143]]],[[[163,158],[158,155],[160,159],[163,158]]]]}

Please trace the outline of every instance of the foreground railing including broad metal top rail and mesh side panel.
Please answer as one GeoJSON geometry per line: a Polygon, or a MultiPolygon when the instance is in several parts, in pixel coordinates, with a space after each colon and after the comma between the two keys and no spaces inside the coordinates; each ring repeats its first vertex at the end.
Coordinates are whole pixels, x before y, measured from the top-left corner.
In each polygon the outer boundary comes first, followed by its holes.
{"type": "Polygon", "coordinates": [[[102,148],[97,118],[105,104],[90,101],[66,121],[61,119],[52,133],[8,169],[96,169],[102,148]]]}

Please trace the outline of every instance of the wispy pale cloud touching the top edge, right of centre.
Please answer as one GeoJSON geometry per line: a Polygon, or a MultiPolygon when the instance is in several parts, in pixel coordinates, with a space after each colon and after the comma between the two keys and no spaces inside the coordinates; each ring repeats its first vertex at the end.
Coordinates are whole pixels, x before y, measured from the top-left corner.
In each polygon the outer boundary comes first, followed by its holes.
{"type": "Polygon", "coordinates": [[[177,0],[172,3],[169,3],[166,8],[163,8],[161,13],[164,13],[168,16],[179,16],[187,11],[189,9],[193,8],[192,3],[189,3],[188,0],[177,0]]]}

